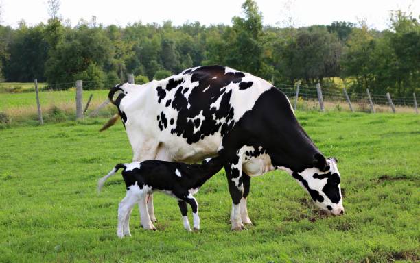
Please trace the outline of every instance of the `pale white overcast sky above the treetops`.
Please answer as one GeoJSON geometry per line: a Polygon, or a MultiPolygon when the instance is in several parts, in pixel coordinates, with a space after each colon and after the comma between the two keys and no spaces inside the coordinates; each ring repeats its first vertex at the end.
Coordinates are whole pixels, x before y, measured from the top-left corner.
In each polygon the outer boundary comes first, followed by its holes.
{"type": "MultiPolygon", "coordinates": [[[[71,25],[80,18],[87,21],[96,16],[97,23],[104,25],[127,25],[170,20],[174,25],[186,21],[200,21],[205,25],[231,24],[233,16],[239,16],[244,0],[61,0],[60,15],[69,19],[71,25]]],[[[333,21],[366,19],[370,27],[388,27],[390,10],[412,10],[418,17],[420,1],[415,0],[257,0],[259,10],[264,16],[264,25],[284,25],[287,16],[292,16],[294,25],[327,25],[333,21]],[[290,5],[292,3],[292,5],[290,5]],[[285,8],[289,5],[290,8],[285,8]]],[[[16,27],[18,21],[25,20],[29,25],[46,22],[47,0],[0,0],[1,25],[16,27]]]]}

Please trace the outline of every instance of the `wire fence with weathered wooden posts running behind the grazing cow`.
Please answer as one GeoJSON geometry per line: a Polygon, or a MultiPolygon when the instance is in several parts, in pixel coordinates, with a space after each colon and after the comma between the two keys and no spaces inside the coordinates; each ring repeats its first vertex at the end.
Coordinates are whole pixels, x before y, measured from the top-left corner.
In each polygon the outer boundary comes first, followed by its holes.
{"type": "MultiPolygon", "coordinates": [[[[128,76],[130,83],[134,83],[132,75],[128,76]]],[[[74,118],[88,116],[112,116],[115,108],[109,105],[108,88],[120,83],[120,79],[106,79],[104,81],[83,81],[78,87],[73,82],[58,84],[38,85],[38,103],[33,92],[22,95],[2,94],[0,113],[11,116],[14,119],[25,116],[38,116],[41,121],[42,115],[57,114],[63,112],[74,118]],[[70,87],[70,88],[69,88],[70,87]],[[102,88],[102,89],[101,89],[102,88]],[[76,97],[77,90],[80,89],[76,97]],[[83,95],[82,95],[83,94],[83,95]],[[3,96],[4,95],[4,96],[3,96]],[[76,107],[76,105],[78,105],[76,107]],[[76,108],[79,112],[76,112],[76,108]],[[39,114],[38,114],[39,115],[39,114]]],[[[34,84],[34,90],[36,89],[34,84]]],[[[345,89],[325,88],[317,86],[275,84],[290,99],[292,107],[296,110],[340,110],[353,112],[412,112],[418,113],[415,94],[412,97],[387,97],[382,94],[369,94],[349,92],[346,98],[345,89]],[[299,90],[298,90],[299,87],[299,90]],[[296,97],[296,91],[297,97],[296,97]],[[369,99],[370,95],[370,99],[369,99]],[[370,103],[372,101],[372,103],[370,103]]],[[[1,119],[0,119],[1,121],[1,119]]]]}

